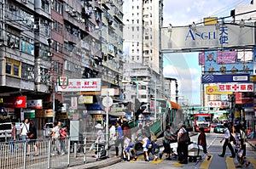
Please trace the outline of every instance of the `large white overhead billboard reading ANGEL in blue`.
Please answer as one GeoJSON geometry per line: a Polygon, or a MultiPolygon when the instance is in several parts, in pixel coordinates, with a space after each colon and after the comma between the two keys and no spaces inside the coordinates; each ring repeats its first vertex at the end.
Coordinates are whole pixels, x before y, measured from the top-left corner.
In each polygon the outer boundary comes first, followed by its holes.
{"type": "Polygon", "coordinates": [[[230,48],[254,45],[253,23],[164,27],[161,29],[163,52],[181,49],[230,48]],[[250,25],[249,25],[250,24],[250,25]]]}

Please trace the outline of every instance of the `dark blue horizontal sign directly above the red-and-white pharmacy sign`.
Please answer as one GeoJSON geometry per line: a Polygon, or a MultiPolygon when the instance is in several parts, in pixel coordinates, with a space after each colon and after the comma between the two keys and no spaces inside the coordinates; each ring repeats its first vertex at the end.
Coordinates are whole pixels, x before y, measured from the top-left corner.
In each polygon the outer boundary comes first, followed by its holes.
{"type": "Polygon", "coordinates": [[[217,82],[250,82],[249,74],[237,75],[202,75],[202,83],[217,83],[217,82]]]}

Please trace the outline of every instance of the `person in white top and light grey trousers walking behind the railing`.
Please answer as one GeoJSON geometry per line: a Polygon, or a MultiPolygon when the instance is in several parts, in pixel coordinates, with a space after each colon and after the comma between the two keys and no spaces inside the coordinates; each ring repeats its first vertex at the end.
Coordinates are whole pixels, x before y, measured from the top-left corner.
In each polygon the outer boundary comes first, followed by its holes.
{"type": "Polygon", "coordinates": [[[55,127],[51,130],[51,136],[53,141],[53,152],[51,153],[52,156],[55,155],[55,151],[57,155],[60,155],[60,129],[61,129],[61,121],[55,122],[55,127]]]}

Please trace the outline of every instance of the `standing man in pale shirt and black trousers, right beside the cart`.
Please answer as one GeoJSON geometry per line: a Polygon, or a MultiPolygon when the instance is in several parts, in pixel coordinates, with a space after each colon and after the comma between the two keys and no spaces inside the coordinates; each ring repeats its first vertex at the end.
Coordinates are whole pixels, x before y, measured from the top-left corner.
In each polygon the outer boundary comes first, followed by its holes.
{"type": "Polygon", "coordinates": [[[179,123],[178,127],[179,127],[179,130],[177,132],[177,155],[178,155],[179,163],[188,164],[189,143],[181,141],[183,134],[185,134],[185,132],[187,131],[183,127],[183,123],[179,123]]]}

